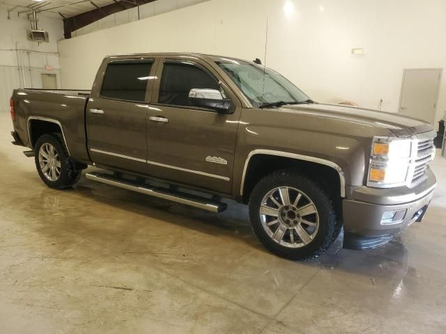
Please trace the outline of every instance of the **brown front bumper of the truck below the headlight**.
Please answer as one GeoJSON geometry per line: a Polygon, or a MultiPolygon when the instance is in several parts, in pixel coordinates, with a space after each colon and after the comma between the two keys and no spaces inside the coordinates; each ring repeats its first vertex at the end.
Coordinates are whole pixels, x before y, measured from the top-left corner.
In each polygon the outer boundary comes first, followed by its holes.
{"type": "Polygon", "coordinates": [[[344,248],[374,248],[387,243],[394,234],[421,221],[436,186],[436,178],[428,169],[428,178],[415,189],[397,189],[390,196],[390,189],[366,189],[360,187],[353,192],[353,198],[343,201],[344,248]],[[367,201],[364,199],[367,198],[367,201]],[[404,202],[398,202],[404,199],[404,202]],[[381,219],[388,211],[406,210],[398,223],[383,224],[381,219]]]}

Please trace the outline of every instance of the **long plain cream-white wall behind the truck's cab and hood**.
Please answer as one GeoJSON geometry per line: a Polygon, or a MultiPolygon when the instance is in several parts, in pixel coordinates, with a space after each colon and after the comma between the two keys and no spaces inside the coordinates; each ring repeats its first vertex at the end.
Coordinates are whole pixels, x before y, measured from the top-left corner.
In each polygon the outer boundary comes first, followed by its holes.
{"type": "MultiPolygon", "coordinates": [[[[314,100],[397,112],[404,68],[446,67],[444,0],[212,0],[59,42],[63,86],[107,54],[197,51],[263,60],[314,100]],[[290,5],[291,3],[291,5],[290,5]],[[293,8],[288,13],[286,8],[293,8]],[[363,47],[364,56],[351,49],[363,47]]],[[[446,110],[446,72],[436,120],[446,110]]]]}

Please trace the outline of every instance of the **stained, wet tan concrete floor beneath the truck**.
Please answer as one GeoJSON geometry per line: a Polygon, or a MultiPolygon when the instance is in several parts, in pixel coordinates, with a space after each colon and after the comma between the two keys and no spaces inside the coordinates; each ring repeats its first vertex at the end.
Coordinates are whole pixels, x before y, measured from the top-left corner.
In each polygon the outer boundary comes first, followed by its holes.
{"type": "Polygon", "coordinates": [[[446,333],[446,159],[422,223],[314,262],[212,214],[85,180],[54,191],[0,115],[0,333],[446,333]]]}

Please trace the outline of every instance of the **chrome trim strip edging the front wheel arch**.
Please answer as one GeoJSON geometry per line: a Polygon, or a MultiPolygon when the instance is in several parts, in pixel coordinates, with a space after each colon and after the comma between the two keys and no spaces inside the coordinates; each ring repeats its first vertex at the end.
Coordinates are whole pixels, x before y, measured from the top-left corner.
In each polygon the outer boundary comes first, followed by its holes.
{"type": "Polygon", "coordinates": [[[341,197],[344,198],[346,196],[346,178],[344,175],[344,172],[342,171],[342,168],[338,164],[334,164],[334,162],[330,160],[325,160],[321,158],[316,157],[309,157],[307,155],[297,154],[297,153],[290,153],[290,152],[282,152],[282,151],[275,151],[275,150],[252,150],[249,152],[246,161],[245,161],[245,167],[243,168],[243,174],[242,174],[242,180],[240,182],[240,196],[243,196],[243,188],[245,186],[245,177],[247,168],[249,166],[249,161],[251,158],[256,154],[266,154],[266,155],[275,155],[277,157],[286,157],[291,159],[297,159],[297,160],[304,160],[304,161],[310,161],[314,162],[316,164],[321,164],[325,166],[329,166],[331,168],[334,168],[337,173],[339,174],[339,180],[340,180],[340,186],[341,186],[341,197]]]}

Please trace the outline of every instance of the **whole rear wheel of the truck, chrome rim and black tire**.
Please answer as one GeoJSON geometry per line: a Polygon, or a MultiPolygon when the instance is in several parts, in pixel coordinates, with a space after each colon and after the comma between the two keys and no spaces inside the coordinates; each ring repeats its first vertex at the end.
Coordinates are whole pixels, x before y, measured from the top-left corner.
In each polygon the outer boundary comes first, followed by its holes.
{"type": "Polygon", "coordinates": [[[37,171],[47,186],[64,189],[79,181],[82,170],[76,168],[58,134],[40,136],[34,150],[37,171]]]}

